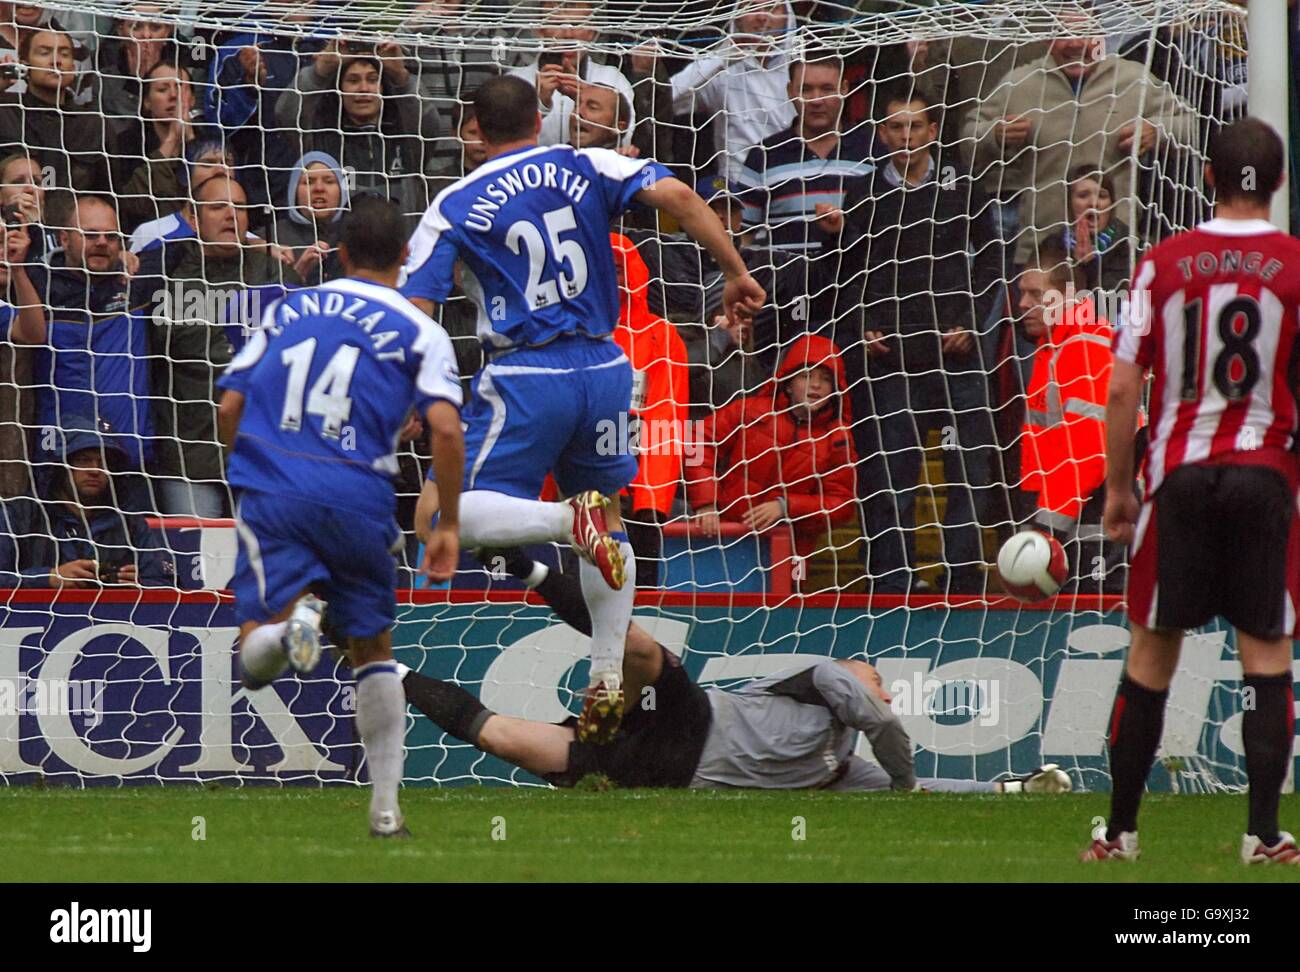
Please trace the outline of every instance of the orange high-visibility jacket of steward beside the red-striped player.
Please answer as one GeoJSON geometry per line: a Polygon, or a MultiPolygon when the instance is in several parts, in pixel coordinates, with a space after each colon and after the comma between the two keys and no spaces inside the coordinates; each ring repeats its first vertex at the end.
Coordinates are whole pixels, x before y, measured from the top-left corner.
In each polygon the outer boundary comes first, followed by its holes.
{"type": "Polygon", "coordinates": [[[1066,307],[1034,356],[1024,403],[1020,489],[1037,494],[1035,521],[1069,530],[1106,480],[1112,325],[1089,300],[1066,307]]]}

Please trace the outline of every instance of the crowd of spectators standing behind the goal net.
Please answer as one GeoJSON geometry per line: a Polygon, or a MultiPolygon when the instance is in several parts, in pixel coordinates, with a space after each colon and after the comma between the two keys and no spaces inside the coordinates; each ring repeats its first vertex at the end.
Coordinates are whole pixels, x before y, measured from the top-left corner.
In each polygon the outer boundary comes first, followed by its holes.
{"type": "MultiPolygon", "coordinates": [[[[599,31],[594,0],[542,0],[542,26],[517,38],[477,34],[462,0],[419,3],[406,45],[341,38],[316,0],[226,31],[178,30],[156,0],[122,6],[0,3],[12,533],[109,494],[113,543],[148,539],[122,518],[136,511],[229,516],[214,389],[257,308],[341,275],[359,195],[396,200],[413,227],[481,165],[471,96],[494,74],[536,86],[543,144],[654,156],[696,185],[768,294],[729,324],[722,274],[676,227],[611,227],[634,417],[680,447],[646,450],[625,499],[642,583],[659,526],[686,517],[706,534],[790,530],[800,556],[857,525],[868,590],[926,590],[916,509],[937,441],[939,589],[984,590],[985,533],[1035,509],[1018,443],[1045,338],[1024,326],[1022,275],[1122,290],[1162,227],[1200,216],[1161,209],[1186,187],[1156,190],[1195,170],[1213,123],[1170,83],[1188,58],[1108,39],[1106,0],[1078,0],[1036,43],[857,48],[807,42],[800,27],[827,14],[788,0],[742,0],[679,44],[599,31]]],[[[477,311],[458,290],[441,314],[468,378],[477,311]]],[[[420,439],[416,422],[415,483],[420,439]]],[[[99,543],[99,521],[79,522],[99,543]]],[[[0,572],[90,580],[68,567],[88,548],[65,547],[0,543],[0,572]]],[[[116,577],[162,582],[133,563],[116,577]]]]}

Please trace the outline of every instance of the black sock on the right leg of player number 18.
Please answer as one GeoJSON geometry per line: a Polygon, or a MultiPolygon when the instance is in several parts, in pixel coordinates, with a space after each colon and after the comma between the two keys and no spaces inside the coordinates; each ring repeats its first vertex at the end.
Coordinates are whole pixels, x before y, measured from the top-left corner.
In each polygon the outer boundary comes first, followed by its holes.
{"type": "Polygon", "coordinates": [[[1243,704],[1242,742],[1245,745],[1245,776],[1251,781],[1249,830],[1270,847],[1278,842],[1278,802],[1291,760],[1295,738],[1295,694],[1291,674],[1248,674],[1243,704]]]}

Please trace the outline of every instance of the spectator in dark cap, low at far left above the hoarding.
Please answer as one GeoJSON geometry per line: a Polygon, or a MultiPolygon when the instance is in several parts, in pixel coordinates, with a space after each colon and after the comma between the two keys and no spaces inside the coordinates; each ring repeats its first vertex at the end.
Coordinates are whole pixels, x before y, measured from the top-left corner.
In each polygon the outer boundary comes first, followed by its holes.
{"type": "Polygon", "coordinates": [[[35,496],[0,504],[0,587],[174,587],[162,538],[122,512],[113,474],[129,461],[95,424],[52,429],[60,463],[35,496]]]}

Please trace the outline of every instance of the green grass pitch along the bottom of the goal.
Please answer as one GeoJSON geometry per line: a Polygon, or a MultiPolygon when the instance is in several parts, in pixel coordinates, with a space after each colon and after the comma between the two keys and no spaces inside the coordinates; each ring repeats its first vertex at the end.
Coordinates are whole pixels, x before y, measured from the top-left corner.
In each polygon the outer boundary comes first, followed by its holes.
{"type": "MultiPolygon", "coordinates": [[[[1300,878],[1238,863],[1245,797],[1148,795],[1143,860],[1100,867],[1075,856],[1105,794],[408,789],[413,841],[370,838],[367,800],[352,787],[0,789],[0,880],[1300,878]]],[[[1282,819],[1300,824],[1300,795],[1283,798],[1282,819]]]]}

